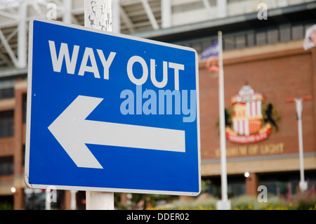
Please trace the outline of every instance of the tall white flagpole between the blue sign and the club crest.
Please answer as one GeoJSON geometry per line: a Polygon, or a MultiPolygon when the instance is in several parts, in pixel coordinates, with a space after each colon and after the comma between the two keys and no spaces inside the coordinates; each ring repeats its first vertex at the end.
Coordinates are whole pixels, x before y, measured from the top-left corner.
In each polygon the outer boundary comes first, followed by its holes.
{"type": "Polygon", "coordinates": [[[218,31],[218,98],[219,98],[219,117],[220,117],[220,180],[222,199],[216,203],[218,210],[230,210],[228,200],[228,184],[226,170],[226,138],[225,138],[225,103],[224,103],[224,70],[223,70],[223,43],[222,32],[218,31]]]}

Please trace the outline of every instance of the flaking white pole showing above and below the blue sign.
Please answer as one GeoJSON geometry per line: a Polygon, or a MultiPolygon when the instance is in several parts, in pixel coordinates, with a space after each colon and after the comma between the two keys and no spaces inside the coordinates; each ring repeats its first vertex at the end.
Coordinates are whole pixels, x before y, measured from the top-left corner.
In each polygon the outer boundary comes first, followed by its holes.
{"type": "MultiPolygon", "coordinates": [[[[112,32],[112,0],[84,0],[84,26],[112,32]]],[[[86,210],[114,210],[114,192],[86,191],[86,210]]]]}

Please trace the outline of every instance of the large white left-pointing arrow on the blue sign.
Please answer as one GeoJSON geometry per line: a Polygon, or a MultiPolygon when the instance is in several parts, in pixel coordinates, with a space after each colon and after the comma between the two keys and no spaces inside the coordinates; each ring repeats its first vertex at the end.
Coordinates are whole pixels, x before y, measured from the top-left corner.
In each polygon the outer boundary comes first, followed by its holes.
{"type": "Polygon", "coordinates": [[[185,131],[86,120],[102,100],[79,95],[48,127],[77,166],[103,169],[86,144],[185,152],[185,131]]]}

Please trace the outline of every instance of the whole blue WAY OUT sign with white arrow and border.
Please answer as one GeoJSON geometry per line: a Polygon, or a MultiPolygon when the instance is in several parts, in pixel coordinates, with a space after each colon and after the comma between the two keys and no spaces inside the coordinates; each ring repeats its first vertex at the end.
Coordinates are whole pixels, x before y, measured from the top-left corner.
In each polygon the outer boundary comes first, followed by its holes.
{"type": "Polygon", "coordinates": [[[198,195],[199,141],[194,49],[30,21],[29,187],[198,195]]]}

